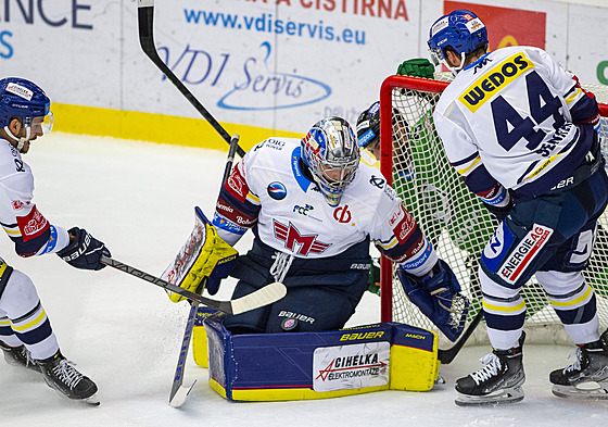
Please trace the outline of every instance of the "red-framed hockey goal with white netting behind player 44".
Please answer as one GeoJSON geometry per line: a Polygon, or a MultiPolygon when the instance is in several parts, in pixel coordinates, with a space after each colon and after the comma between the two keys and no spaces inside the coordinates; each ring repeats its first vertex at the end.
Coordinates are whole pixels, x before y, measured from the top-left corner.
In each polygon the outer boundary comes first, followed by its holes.
{"type": "MultiPolygon", "coordinates": [[[[452,266],[463,293],[470,299],[468,326],[481,310],[481,289],[476,273],[479,256],[498,223],[479,198],[468,190],[443,151],[431,116],[451,75],[441,73],[435,78],[390,76],[383,81],[380,90],[380,163],[382,174],[392,181],[439,256],[452,266]]],[[[608,86],[583,87],[600,102],[601,150],[606,155],[608,86]]],[[[608,210],[599,219],[595,250],[584,276],[596,292],[597,312],[604,330],[608,327],[608,210]]],[[[534,277],[523,287],[522,297],[528,309],[524,329],[529,342],[571,343],[534,277]]],[[[434,330],[440,336],[440,348],[452,346],[405,297],[394,265],[387,258],[381,260],[381,319],[434,330]]],[[[484,322],[467,343],[489,343],[484,322]]]]}

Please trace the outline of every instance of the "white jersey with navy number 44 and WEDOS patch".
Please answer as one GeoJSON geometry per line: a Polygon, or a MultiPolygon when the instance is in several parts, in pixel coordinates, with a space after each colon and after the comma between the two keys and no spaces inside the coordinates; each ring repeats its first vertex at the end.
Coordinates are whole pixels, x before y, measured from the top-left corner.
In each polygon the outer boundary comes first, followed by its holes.
{"type": "Polygon", "coordinates": [[[497,181],[528,199],[581,164],[592,138],[574,124],[595,114],[595,100],[545,51],[509,47],[458,73],[433,118],[449,162],[473,192],[497,181]]]}

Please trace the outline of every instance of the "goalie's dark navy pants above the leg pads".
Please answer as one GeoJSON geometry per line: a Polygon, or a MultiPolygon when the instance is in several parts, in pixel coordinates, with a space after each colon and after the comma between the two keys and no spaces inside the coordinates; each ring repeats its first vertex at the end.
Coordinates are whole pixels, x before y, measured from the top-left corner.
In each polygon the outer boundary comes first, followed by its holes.
{"type": "MultiPolygon", "coordinates": [[[[231,275],[239,279],[232,298],[275,281],[269,273],[275,253],[255,238],[253,248],[239,258],[232,269],[231,275]]],[[[294,258],[282,280],[288,289],[284,298],[251,312],[227,315],[224,324],[233,334],[340,329],[367,289],[370,265],[367,239],[340,255],[317,260],[294,258]]]]}

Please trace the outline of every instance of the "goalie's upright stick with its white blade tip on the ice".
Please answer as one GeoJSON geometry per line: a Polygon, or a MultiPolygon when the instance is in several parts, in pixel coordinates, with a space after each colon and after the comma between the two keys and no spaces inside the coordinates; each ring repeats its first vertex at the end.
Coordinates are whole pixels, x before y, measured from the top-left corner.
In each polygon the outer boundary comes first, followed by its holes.
{"type": "MultiPolygon", "coordinates": [[[[232,163],[235,162],[235,153],[239,145],[239,136],[233,135],[230,139],[230,147],[228,148],[228,159],[226,160],[226,167],[224,168],[224,176],[221,177],[221,185],[224,186],[228,180],[230,171],[232,169],[232,163]]],[[[206,282],[205,282],[206,285],[206,282]]],[[[203,286],[204,289],[204,286],[203,286]]],[[[169,393],[169,405],[173,407],[179,407],[192,391],[192,388],[197,384],[197,380],[192,381],[190,387],[183,387],[183,367],[186,365],[186,357],[188,356],[188,350],[190,349],[190,341],[192,339],[192,332],[194,330],[194,321],[197,319],[197,313],[199,311],[199,303],[192,302],[190,307],[190,314],[188,315],[188,322],[186,322],[186,329],[183,330],[183,338],[181,340],[181,350],[179,351],[179,357],[177,360],[177,366],[175,368],[175,375],[173,377],[172,391],[169,393]]]]}

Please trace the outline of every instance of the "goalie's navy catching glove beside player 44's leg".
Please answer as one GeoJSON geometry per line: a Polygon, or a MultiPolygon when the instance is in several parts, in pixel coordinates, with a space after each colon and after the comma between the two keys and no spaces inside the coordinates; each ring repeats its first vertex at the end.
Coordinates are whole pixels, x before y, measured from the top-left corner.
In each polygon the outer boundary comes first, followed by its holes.
{"type": "Polygon", "coordinates": [[[443,260],[431,274],[417,277],[401,265],[397,276],[405,294],[449,339],[456,341],[465,328],[469,300],[460,292],[460,285],[452,268],[443,260]]]}

